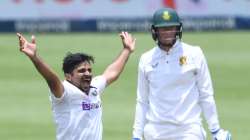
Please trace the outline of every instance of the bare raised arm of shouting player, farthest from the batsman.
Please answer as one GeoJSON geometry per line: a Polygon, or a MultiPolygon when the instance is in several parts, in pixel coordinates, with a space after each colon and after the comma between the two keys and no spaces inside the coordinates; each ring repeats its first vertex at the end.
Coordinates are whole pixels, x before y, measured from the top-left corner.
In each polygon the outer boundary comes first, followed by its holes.
{"type": "Polygon", "coordinates": [[[64,88],[56,73],[47,65],[37,54],[35,36],[32,36],[31,43],[28,42],[20,33],[17,33],[19,39],[19,49],[27,55],[33,62],[37,71],[46,80],[51,92],[55,97],[60,98],[63,94],[64,88]]]}

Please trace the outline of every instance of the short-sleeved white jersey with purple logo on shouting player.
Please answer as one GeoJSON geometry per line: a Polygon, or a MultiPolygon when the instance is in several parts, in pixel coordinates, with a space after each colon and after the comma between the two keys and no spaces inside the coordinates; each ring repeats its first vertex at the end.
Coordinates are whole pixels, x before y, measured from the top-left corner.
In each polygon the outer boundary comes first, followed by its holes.
{"type": "Polygon", "coordinates": [[[106,86],[103,76],[93,78],[89,95],[63,81],[61,98],[51,94],[57,140],[101,140],[102,106],[100,94],[106,86]]]}

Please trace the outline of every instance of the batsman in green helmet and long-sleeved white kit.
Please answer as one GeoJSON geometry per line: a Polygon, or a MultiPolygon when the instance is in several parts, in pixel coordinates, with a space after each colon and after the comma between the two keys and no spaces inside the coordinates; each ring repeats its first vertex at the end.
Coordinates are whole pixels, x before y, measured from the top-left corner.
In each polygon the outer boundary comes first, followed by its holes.
{"type": "Polygon", "coordinates": [[[156,47],[139,62],[134,140],[205,140],[201,113],[213,140],[230,140],[221,129],[211,77],[198,46],[181,41],[176,11],[159,9],[151,28],[156,47]]]}

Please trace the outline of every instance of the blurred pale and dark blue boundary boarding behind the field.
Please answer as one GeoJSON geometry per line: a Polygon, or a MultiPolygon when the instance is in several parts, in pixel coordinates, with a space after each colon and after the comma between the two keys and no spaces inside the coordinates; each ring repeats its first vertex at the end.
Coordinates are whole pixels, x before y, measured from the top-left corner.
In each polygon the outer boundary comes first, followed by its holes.
{"type": "Polygon", "coordinates": [[[161,7],[184,30],[250,29],[250,0],[1,0],[0,32],[143,32],[161,7]]]}

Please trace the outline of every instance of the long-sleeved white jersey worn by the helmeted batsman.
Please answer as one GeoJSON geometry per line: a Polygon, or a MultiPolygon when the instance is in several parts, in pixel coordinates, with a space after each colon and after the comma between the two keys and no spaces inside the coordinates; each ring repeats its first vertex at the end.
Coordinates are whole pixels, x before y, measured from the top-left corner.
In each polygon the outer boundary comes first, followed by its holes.
{"type": "Polygon", "coordinates": [[[159,124],[200,124],[202,111],[209,129],[219,128],[212,82],[200,47],[177,41],[169,52],[157,46],[141,56],[133,137],[142,138],[147,123],[156,130],[159,124]]]}

